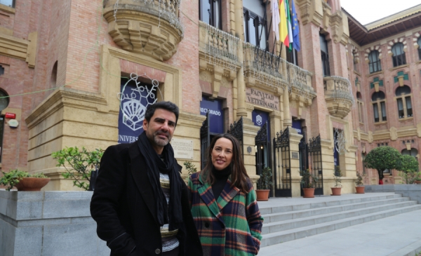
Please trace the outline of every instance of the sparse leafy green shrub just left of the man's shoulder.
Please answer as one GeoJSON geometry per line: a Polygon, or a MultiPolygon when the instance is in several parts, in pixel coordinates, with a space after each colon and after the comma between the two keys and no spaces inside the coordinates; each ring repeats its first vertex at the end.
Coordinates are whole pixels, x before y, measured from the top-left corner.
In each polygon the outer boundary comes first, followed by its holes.
{"type": "Polygon", "coordinates": [[[56,159],[58,167],[65,168],[62,173],[65,179],[73,179],[73,185],[88,190],[91,182],[91,173],[98,170],[104,151],[95,149],[88,151],[84,147],[79,151],[78,147],[66,147],[51,154],[56,159]],[[87,180],[88,182],[85,182],[87,180]]]}

